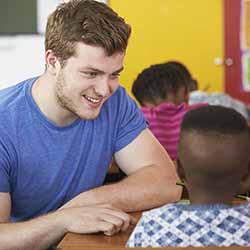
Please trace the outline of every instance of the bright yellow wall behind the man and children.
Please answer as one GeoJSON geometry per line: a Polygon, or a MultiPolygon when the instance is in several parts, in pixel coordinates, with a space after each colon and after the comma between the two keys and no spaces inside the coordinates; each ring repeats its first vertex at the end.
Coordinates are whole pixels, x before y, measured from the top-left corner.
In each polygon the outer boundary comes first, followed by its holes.
{"type": "Polygon", "coordinates": [[[130,92],[137,74],[154,63],[179,60],[200,88],[224,90],[223,0],[110,0],[132,26],[120,82],[130,92]]]}

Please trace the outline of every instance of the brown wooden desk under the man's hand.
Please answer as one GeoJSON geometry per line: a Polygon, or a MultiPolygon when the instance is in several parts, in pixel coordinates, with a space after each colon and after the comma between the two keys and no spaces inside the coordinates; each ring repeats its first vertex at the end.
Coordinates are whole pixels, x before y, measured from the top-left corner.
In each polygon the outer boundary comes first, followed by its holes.
{"type": "MultiPolygon", "coordinates": [[[[234,204],[244,203],[242,200],[235,200],[234,204]]],[[[131,213],[132,216],[139,219],[141,212],[131,213]]],[[[133,230],[133,226],[126,232],[120,232],[114,236],[105,236],[103,234],[80,235],[68,233],[61,243],[58,245],[58,250],[124,250],[125,244],[133,230]]],[[[132,248],[131,248],[132,249],[132,248]]],[[[165,248],[134,248],[134,249],[173,249],[173,247],[165,248]]],[[[249,247],[187,247],[187,248],[174,248],[175,250],[243,250],[250,249],[249,247]]]]}

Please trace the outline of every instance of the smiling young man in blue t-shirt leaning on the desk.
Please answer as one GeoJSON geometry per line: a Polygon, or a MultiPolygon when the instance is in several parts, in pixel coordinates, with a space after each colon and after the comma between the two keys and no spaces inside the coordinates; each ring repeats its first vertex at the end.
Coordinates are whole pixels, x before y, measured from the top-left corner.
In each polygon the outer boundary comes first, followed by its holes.
{"type": "Polygon", "coordinates": [[[118,83],[129,36],[105,4],[61,4],[47,23],[45,73],[0,92],[1,250],[112,235],[132,222],[122,211],[179,199],[172,162],[118,83]],[[128,177],[101,186],[113,156],[128,177]]]}

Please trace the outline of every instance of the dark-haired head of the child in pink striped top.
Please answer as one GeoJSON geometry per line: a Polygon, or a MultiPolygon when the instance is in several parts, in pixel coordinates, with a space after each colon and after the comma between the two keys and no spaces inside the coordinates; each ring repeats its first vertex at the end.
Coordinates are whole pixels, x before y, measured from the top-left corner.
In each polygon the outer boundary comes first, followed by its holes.
{"type": "Polygon", "coordinates": [[[144,69],[132,86],[141,106],[157,106],[162,102],[180,104],[188,101],[190,78],[176,67],[176,62],[151,65],[144,69]]]}

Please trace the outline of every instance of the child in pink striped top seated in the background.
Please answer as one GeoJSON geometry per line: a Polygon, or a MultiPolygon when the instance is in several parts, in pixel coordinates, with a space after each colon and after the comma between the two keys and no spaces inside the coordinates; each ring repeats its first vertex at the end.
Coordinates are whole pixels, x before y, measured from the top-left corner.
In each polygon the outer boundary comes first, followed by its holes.
{"type": "Polygon", "coordinates": [[[191,75],[179,65],[174,61],[152,65],[138,75],[132,86],[150,130],[174,161],[183,116],[190,109],[206,105],[187,104],[191,75]]]}

